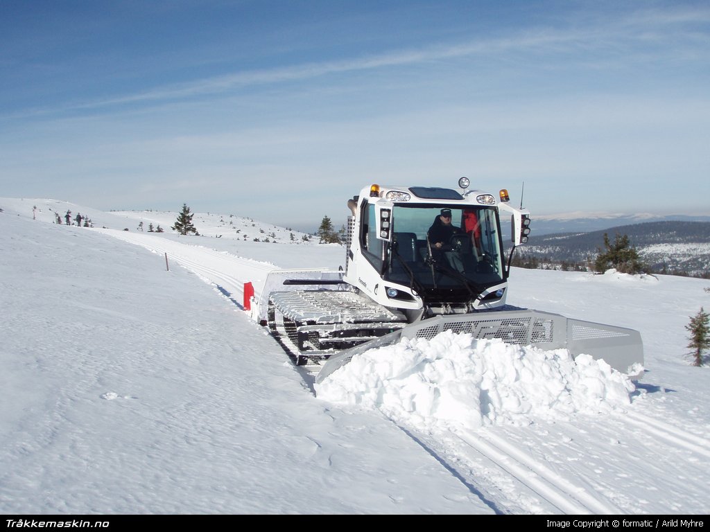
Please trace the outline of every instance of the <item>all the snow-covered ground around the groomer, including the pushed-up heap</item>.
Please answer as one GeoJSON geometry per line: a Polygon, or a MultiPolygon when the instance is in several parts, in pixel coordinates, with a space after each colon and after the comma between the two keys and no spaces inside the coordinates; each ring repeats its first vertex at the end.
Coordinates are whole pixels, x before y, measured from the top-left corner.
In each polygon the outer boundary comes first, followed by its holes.
{"type": "Polygon", "coordinates": [[[638,329],[636,384],[445,333],[368,352],[315,395],[238,292],[337,267],[341,246],[123,231],[83,206],[97,228],[58,226],[31,206],[0,199],[5,514],[710,509],[708,372],[684,347],[710,282],[513,271],[511,304],[638,329]]]}

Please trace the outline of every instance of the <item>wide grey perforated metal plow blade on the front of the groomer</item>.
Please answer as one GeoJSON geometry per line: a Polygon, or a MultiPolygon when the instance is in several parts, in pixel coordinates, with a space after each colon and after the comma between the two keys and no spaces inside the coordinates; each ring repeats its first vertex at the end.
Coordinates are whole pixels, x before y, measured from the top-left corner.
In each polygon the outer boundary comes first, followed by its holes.
{"type": "Polygon", "coordinates": [[[500,338],[507,343],[542,350],[567,349],[573,358],[586,354],[613,369],[639,377],[643,372],[643,342],[633,329],[565,318],[535,310],[490,311],[459,316],[436,316],[410,323],[398,331],[342,351],[322,362],[316,382],[346,365],[354,355],[398,343],[401,338],[434,338],[442,331],[471,333],[474,338],[500,338]]]}

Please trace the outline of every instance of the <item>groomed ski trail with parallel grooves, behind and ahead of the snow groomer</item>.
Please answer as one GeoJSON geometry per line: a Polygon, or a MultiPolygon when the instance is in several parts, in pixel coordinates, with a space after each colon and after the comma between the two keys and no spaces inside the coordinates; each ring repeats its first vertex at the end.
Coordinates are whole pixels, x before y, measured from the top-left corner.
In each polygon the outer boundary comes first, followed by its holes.
{"type": "MultiPolygon", "coordinates": [[[[239,306],[244,282],[254,283],[258,297],[268,272],[276,269],[256,260],[155,235],[98,228],[94,231],[141,245],[161,256],[167,254],[170,264],[177,263],[214,284],[224,297],[239,306]],[[209,261],[205,260],[207,257],[209,261]],[[213,267],[205,267],[207,262],[213,267]]],[[[275,341],[272,354],[288,356],[275,341]]],[[[310,389],[318,369],[318,365],[296,368],[310,389]]],[[[710,458],[710,439],[674,425],[672,419],[657,421],[662,414],[644,413],[643,409],[652,408],[648,403],[637,406],[631,404],[625,412],[562,421],[536,420],[526,426],[484,426],[476,431],[422,431],[406,421],[390,421],[498,514],[673,514],[682,505],[673,497],[664,497],[665,506],[659,507],[659,490],[704,499],[705,493],[688,493],[683,478],[692,477],[695,464],[710,458]],[[626,453],[624,442],[630,438],[643,441],[642,455],[626,453]],[[560,447],[564,447],[564,453],[556,453],[560,447]],[[576,458],[569,458],[570,448],[576,458]],[[675,462],[677,478],[657,486],[654,465],[668,460],[675,462]],[[604,475],[598,475],[602,471],[604,475]],[[616,479],[613,485],[603,481],[609,471],[616,479]],[[678,484],[677,489],[674,484],[678,484]],[[648,491],[648,499],[627,495],[644,490],[648,491]],[[655,503],[651,505],[650,501],[655,503]]]]}

